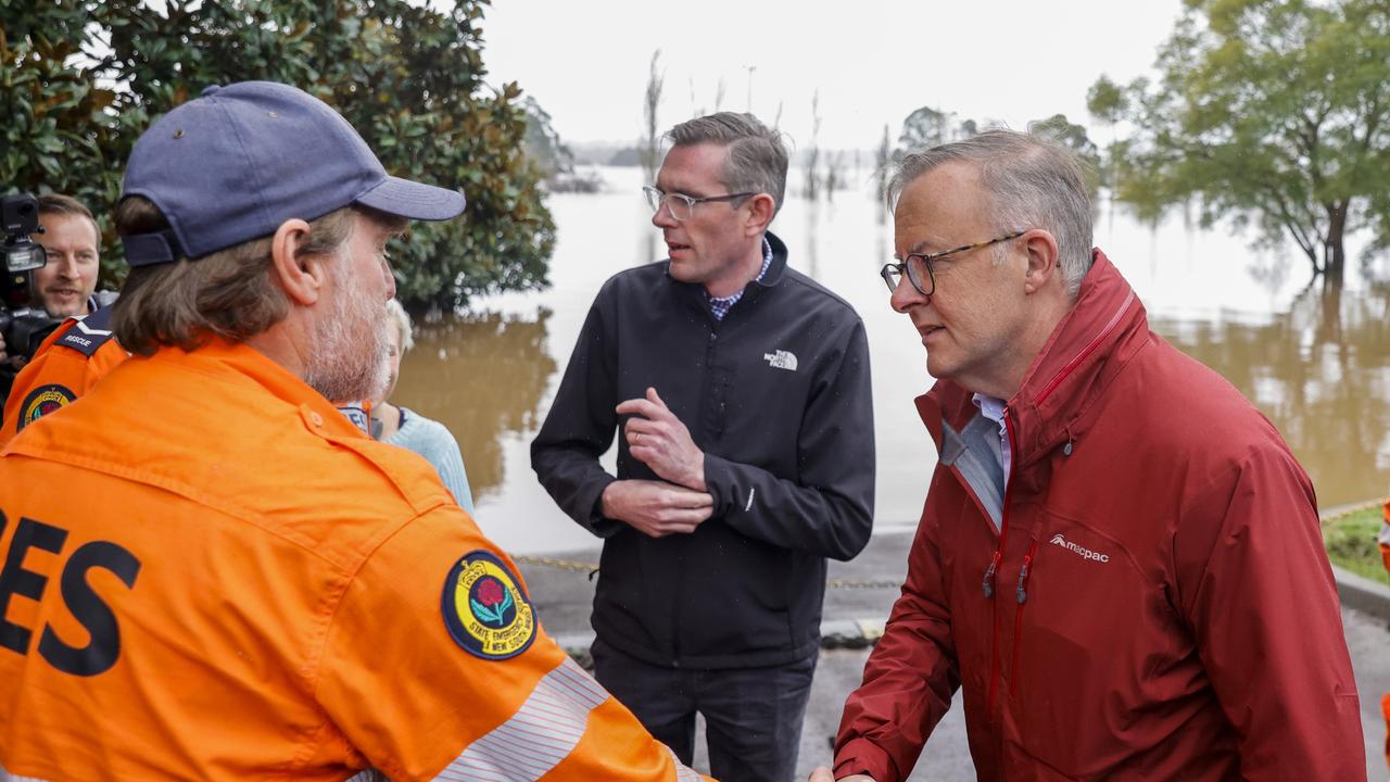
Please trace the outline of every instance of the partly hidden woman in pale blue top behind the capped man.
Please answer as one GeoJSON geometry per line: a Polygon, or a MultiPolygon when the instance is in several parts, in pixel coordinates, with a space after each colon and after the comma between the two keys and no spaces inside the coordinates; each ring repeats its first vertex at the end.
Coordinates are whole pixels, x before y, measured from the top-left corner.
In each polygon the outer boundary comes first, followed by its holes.
{"type": "Polygon", "coordinates": [[[386,302],[386,310],[391,313],[386,319],[386,359],[391,363],[391,376],[381,399],[373,399],[371,436],[424,456],[434,465],[445,487],[453,493],[459,506],[471,516],[473,491],[468,488],[468,473],[463,469],[459,441],[442,423],[386,401],[396,390],[396,380],[400,377],[400,358],[416,345],[410,316],[400,302],[391,299],[386,302]]]}

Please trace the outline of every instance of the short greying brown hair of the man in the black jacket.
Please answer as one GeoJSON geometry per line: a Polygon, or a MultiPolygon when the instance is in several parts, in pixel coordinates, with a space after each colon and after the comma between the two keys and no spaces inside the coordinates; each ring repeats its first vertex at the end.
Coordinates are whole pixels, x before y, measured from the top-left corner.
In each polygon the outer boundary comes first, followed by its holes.
{"type": "Polygon", "coordinates": [[[773,214],[787,196],[787,146],[783,134],[769,129],[752,114],[720,111],[687,120],[666,132],[676,146],[717,143],[728,147],[724,186],[730,192],[773,196],[773,214]]]}

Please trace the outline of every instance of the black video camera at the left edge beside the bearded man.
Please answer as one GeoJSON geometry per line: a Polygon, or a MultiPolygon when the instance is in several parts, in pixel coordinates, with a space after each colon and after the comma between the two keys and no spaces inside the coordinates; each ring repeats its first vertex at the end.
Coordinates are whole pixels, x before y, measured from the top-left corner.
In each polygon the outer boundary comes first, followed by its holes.
{"type": "Polygon", "coordinates": [[[43,338],[61,323],[31,301],[33,270],[49,263],[43,245],[29,238],[31,234],[43,232],[39,225],[39,199],[29,193],[0,199],[0,228],[4,230],[4,244],[0,245],[0,255],[4,257],[4,277],[0,277],[0,335],[4,335],[7,353],[32,358],[43,338]]]}

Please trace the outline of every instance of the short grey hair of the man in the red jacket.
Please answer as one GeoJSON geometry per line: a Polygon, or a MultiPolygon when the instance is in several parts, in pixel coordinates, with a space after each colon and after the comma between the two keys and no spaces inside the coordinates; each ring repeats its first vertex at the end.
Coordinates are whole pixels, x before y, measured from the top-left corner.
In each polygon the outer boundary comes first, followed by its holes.
{"type": "Polygon", "coordinates": [[[967,163],[979,170],[995,230],[1042,228],[1052,234],[1062,285],[1068,298],[1076,301],[1081,280],[1091,270],[1093,242],[1091,198],[1076,153],[1056,142],[1005,129],[913,152],[888,181],[888,210],[898,209],[908,185],[945,163],[967,163]]]}

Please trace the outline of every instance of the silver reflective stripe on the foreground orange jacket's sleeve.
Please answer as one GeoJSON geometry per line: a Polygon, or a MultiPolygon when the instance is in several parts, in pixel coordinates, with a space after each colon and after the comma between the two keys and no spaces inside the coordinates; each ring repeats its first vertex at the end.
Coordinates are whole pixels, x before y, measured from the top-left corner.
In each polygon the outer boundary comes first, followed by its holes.
{"type": "Polygon", "coordinates": [[[546,673],[521,708],[468,744],[435,779],[534,782],[569,757],[589,712],[609,697],[573,660],[546,673]]]}

